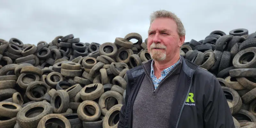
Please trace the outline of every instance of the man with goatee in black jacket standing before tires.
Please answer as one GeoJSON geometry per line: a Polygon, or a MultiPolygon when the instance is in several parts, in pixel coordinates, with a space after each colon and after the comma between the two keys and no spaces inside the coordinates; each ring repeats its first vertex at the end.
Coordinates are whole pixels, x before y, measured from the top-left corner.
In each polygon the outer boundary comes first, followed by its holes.
{"type": "Polygon", "coordinates": [[[210,72],[180,56],[185,29],[165,10],[151,15],[151,60],[126,72],[118,128],[234,128],[221,86],[210,72]]]}

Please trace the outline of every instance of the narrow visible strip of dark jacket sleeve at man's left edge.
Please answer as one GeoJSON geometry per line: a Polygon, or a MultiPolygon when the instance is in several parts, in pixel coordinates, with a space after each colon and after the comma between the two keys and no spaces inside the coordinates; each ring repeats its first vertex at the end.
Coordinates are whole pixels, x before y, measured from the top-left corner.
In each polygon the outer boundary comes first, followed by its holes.
{"type": "Polygon", "coordinates": [[[121,110],[119,112],[119,123],[117,125],[117,128],[124,128],[124,117],[125,117],[126,104],[127,104],[128,95],[129,95],[129,88],[128,87],[129,87],[129,82],[127,82],[127,85],[126,85],[124,103],[123,103],[123,106],[121,107],[121,110]]]}

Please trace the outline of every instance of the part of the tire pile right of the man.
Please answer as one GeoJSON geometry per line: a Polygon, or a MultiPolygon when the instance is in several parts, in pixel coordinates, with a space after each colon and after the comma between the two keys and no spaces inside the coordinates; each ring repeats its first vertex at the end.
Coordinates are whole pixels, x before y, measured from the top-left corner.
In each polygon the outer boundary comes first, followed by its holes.
{"type": "Polygon", "coordinates": [[[185,42],[180,54],[217,77],[236,128],[256,128],[256,33],[212,31],[203,40],[185,42]]]}

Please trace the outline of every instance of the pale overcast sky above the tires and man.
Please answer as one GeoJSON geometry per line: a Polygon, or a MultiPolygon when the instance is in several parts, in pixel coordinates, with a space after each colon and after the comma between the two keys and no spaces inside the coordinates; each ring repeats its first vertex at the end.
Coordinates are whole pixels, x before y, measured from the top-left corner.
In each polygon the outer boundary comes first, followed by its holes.
{"type": "Polygon", "coordinates": [[[255,0],[0,0],[0,38],[37,44],[74,34],[80,42],[102,44],[136,32],[145,40],[150,13],[165,9],[180,17],[185,42],[199,41],[213,30],[255,32],[255,5],[255,0]]]}

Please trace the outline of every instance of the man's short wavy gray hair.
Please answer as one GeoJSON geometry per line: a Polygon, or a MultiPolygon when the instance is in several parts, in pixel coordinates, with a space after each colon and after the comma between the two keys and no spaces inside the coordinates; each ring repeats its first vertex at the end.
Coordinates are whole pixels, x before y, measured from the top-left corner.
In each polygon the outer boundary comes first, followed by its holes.
{"type": "Polygon", "coordinates": [[[180,18],[178,18],[177,15],[175,15],[174,13],[172,13],[170,11],[166,11],[166,10],[155,11],[150,15],[150,24],[154,20],[156,20],[156,18],[170,18],[170,19],[174,20],[177,24],[179,36],[185,36],[185,34],[186,34],[185,28],[184,28],[180,18]]]}

